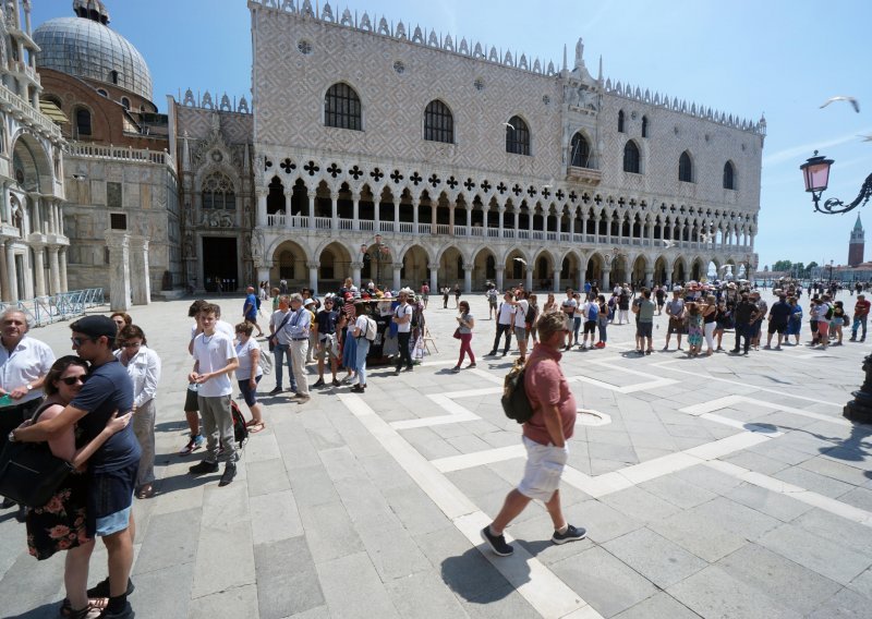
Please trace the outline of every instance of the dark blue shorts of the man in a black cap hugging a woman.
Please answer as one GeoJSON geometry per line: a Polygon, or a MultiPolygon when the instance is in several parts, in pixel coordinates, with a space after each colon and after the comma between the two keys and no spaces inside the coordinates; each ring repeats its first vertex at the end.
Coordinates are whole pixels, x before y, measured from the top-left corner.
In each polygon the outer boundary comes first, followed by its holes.
{"type": "Polygon", "coordinates": [[[130,525],[138,460],[114,471],[88,475],[87,535],[112,535],[130,525]]]}

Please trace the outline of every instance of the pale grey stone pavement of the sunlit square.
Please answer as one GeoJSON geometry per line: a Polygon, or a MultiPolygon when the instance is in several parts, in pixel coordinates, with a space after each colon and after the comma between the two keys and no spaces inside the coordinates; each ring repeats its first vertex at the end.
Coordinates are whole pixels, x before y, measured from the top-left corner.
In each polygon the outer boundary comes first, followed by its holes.
{"type": "MultiPolygon", "coordinates": [[[[494,323],[483,295],[468,300],[477,369],[450,373],[453,298],[434,298],[438,353],[397,377],[374,368],[363,396],[263,398],[267,428],[227,488],[177,456],[190,300],[134,307],[164,361],[158,494],[135,502],[137,617],[869,616],[872,427],[840,416],[868,344],[638,357],[633,327],[610,327],[605,350],[564,355],[580,405],[603,416],[580,417],[564,476],[589,538],[552,545],[536,503],[507,531],[516,555],[498,558],[479,530],[523,469],[498,402],[512,357],[483,356],[494,323]]],[[[219,302],[235,321],[242,300],[219,302]]],[[[32,335],[63,354],[69,332],[32,335]]],[[[55,617],[62,566],[29,557],[23,525],[0,513],[2,616],[55,617]]],[[[105,553],[92,566],[104,578],[105,553]]]]}

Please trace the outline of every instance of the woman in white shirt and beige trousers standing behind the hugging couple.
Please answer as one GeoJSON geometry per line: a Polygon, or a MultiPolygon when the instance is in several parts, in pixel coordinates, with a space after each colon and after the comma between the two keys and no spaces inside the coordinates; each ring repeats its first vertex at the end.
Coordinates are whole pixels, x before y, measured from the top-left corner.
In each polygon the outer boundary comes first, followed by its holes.
{"type": "Polygon", "coordinates": [[[146,345],[145,333],[136,325],[118,331],[116,356],[133,380],[133,434],[142,456],[136,472],[136,498],[155,495],[155,393],[160,380],[160,357],[146,345]]]}

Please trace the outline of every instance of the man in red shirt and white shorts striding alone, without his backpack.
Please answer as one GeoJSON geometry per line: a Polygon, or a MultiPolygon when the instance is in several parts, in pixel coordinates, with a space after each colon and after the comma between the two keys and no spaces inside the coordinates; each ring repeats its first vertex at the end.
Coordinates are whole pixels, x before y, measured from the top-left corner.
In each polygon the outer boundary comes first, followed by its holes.
{"type": "Polygon", "coordinates": [[[562,314],[543,314],[537,324],[540,341],[526,362],[524,388],[533,416],[523,427],[526,448],[524,477],[510,491],[494,522],[482,529],[482,538],[500,557],[514,549],[502,531],[532,499],[545,503],[554,522],[554,544],[583,539],[588,532],[569,524],[560,508],[560,475],[569,456],[567,440],[576,427],[576,398],[560,369],[559,352],[568,329],[562,314]]]}

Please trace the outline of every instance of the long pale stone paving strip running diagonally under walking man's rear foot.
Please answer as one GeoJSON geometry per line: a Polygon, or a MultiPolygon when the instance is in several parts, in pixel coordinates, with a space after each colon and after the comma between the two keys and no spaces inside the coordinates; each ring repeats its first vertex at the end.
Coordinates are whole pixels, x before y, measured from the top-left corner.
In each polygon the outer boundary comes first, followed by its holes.
{"type": "MultiPolygon", "coordinates": [[[[590,606],[522,546],[516,545],[511,557],[497,557],[491,553],[480,536],[480,531],[491,523],[491,518],[379,417],[361,397],[341,393],[339,399],[451,520],[455,527],[482,553],[536,612],[548,619],[560,619],[590,606]]],[[[509,541],[510,536],[507,535],[506,538],[509,541]]],[[[585,617],[594,618],[600,615],[589,614],[585,617]]]]}

